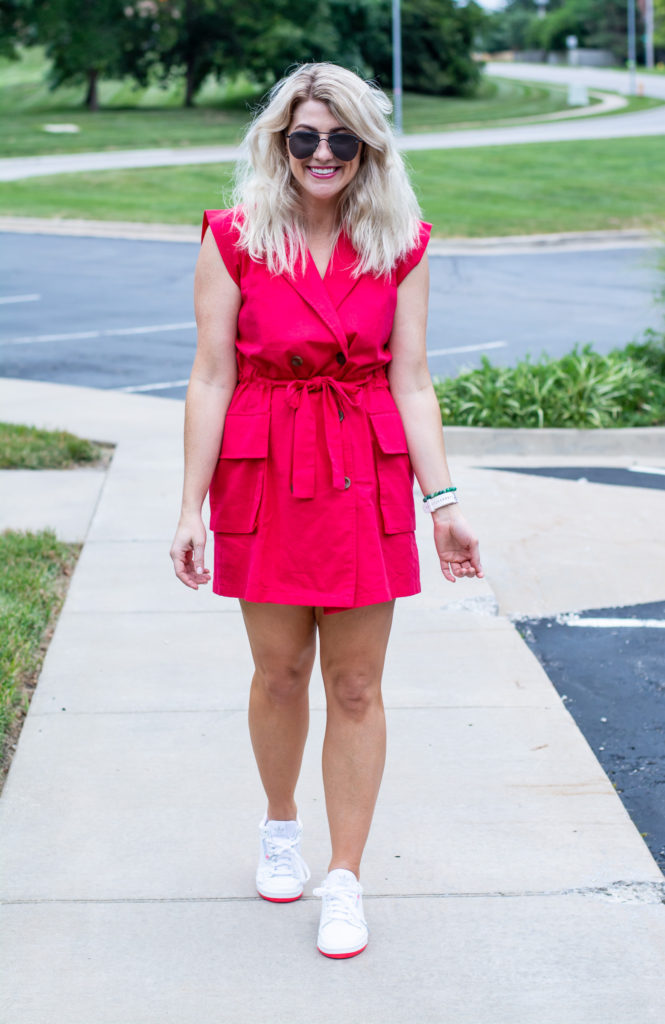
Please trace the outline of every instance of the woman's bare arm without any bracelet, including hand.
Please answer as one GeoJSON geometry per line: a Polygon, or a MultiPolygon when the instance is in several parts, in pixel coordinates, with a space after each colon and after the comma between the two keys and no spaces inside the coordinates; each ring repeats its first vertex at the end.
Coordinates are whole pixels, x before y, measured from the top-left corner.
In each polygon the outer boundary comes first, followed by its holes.
{"type": "Polygon", "coordinates": [[[180,519],[171,547],[178,580],[198,590],[208,583],[201,508],[221,443],[224,418],[238,382],[236,336],[240,289],[219,255],[212,231],[201,246],[194,278],[197,353],[184,404],[184,482],[180,519]]]}

